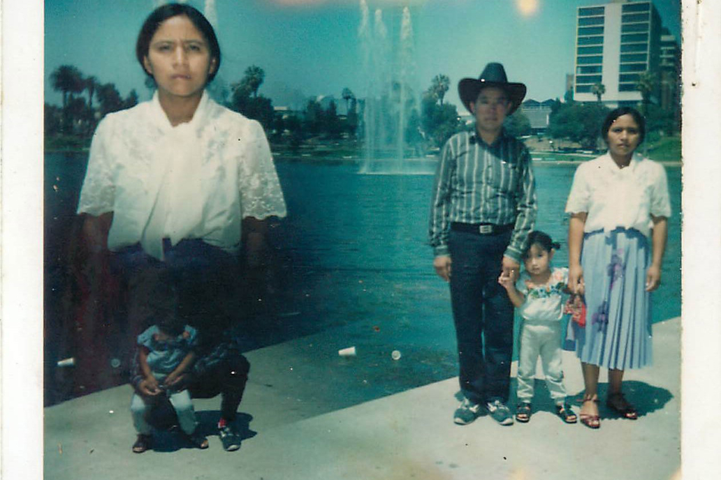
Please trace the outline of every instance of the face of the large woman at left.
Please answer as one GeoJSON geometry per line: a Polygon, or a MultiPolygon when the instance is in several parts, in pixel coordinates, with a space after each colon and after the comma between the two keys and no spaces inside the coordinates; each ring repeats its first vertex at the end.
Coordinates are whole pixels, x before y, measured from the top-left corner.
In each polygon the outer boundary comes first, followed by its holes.
{"type": "Polygon", "coordinates": [[[160,25],[143,64],[165,99],[201,96],[208,75],[216,68],[205,37],[184,15],[160,25]]]}

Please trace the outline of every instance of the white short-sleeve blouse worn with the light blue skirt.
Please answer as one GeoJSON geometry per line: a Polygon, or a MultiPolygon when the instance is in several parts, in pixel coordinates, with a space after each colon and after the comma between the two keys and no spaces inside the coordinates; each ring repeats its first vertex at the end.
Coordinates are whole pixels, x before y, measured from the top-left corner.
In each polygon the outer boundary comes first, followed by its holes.
{"type": "Polygon", "coordinates": [[[666,172],[660,163],[634,154],[626,168],[611,155],[580,164],[573,177],[566,213],[586,212],[584,232],[617,227],[649,236],[654,217],[670,217],[666,172]]]}

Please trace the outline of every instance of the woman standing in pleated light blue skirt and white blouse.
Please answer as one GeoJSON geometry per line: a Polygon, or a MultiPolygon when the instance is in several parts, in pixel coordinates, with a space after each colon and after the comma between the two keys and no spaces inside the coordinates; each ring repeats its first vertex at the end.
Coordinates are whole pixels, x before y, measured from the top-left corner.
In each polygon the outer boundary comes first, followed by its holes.
{"type": "Polygon", "coordinates": [[[601,127],[606,155],[581,164],[566,212],[569,286],[584,294],[587,318],[576,327],[585,392],[580,420],[598,428],[598,373],[609,369],[606,405],[635,420],[624,398],[627,368],[651,363],[650,292],[661,278],[671,205],[663,166],[634,150],[645,137],[636,109],[609,113],[601,127]]]}

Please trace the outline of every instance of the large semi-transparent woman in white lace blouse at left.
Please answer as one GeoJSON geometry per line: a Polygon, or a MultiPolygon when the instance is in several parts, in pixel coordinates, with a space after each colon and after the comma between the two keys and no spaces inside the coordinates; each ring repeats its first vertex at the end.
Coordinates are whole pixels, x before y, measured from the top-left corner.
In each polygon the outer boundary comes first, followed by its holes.
{"type": "MultiPolygon", "coordinates": [[[[286,215],[283,193],[260,123],[205,91],[221,51],[203,14],[185,4],[159,7],[143,24],[136,55],[156,93],[98,125],[78,212],[87,214],[91,248],[114,252],[128,283],[129,338],[151,322],[141,298],[159,271],[177,284],[180,311],[201,338],[211,330],[206,337],[217,338],[234,313],[241,238],[262,244],[263,221],[286,215]]],[[[234,409],[223,420],[229,415],[234,409]]]]}

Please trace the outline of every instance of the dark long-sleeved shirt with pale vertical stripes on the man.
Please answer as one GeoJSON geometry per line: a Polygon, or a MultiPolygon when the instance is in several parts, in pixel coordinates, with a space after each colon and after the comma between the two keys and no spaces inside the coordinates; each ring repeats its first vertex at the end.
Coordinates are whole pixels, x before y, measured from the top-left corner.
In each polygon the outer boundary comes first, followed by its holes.
{"type": "Polygon", "coordinates": [[[435,173],[430,245],[448,255],[451,222],[513,224],[505,255],[520,262],[536,222],[536,182],[526,145],[503,130],[492,145],[475,132],[448,139],[435,173]]]}

